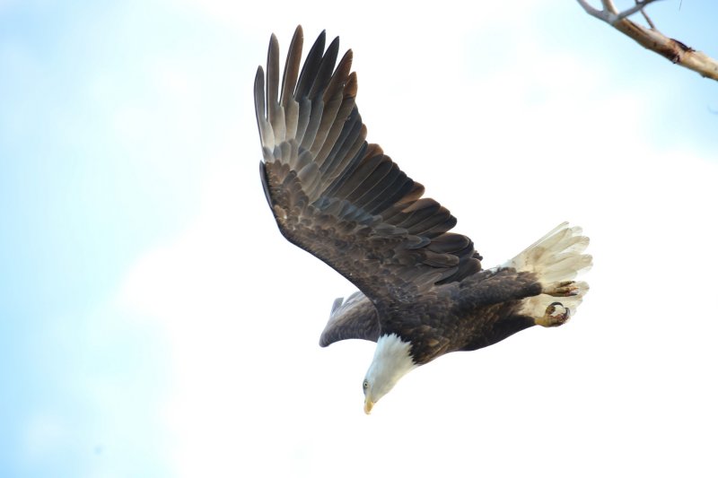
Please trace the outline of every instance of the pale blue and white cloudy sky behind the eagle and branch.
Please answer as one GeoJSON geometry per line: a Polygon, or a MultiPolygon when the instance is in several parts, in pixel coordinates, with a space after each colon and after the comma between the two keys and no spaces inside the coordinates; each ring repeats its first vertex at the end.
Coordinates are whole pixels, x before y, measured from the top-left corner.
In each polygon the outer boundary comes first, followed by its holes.
{"type": "MultiPolygon", "coordinates": [[[[649,13],[718,56],[718,5],[649,13]]],[[[714,476],[716,88],[570,0],[0,1],[0,475],[714,476]],[[258,179],[254,74],[299,23],[486,266],[583,227],[568,324],[364,415],[373,343],[318,345],[354,288],[258,179]]]]}

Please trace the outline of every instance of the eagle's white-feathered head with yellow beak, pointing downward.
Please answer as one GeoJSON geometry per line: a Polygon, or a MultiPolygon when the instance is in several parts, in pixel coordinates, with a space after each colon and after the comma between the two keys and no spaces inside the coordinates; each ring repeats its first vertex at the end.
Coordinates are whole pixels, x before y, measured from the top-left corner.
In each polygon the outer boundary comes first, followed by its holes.
{"type": "Polygon", "coordinates": [[[363,382],[364,413],[372,412],[374,404],[387,395],[398,379],[407,375],[418,365],[411,358],[411,343],[398,335],[381,335],[376,341],[376,352],[363,382]]]}

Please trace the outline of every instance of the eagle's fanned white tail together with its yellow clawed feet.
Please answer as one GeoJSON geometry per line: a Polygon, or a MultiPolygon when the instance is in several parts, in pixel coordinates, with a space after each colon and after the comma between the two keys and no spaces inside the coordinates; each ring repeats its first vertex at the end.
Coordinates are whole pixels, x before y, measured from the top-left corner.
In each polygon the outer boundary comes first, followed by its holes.
{"type": "Polygon", "coordinates": [[[580,227],[564,222],[506,264],[537,274],[543,288],[543,293],[523,300],[521,314],[542,326],[559,326],[574,314],[589,290],[588,283],[574,281],[591,268],[591,256],[583,254],[588,245],[580,227]]]}

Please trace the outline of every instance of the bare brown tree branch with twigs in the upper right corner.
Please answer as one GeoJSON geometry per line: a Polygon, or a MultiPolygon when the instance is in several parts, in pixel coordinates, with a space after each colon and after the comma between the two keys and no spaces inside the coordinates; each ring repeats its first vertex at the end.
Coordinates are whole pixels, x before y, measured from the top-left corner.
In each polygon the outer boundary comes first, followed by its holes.
{"type": "Polygon", "coordinates": [[[583,10],[596,17],[602,22],[609,23],[613,28],[620,31],[627,37],[634,39],[644,48],[648,48],[661,56],[668,58],[676,65],[681,65],[693,70],[705,78],[718,81],[718,61],[705,53],[696,51],[677,39],[670,39],[656,30],[651,19],[644,12],[644,7],[656,0],[635,0],[635,5],[623,12],[617,12],[612,0],[601,0],[602,9],[591,6],[587,0],[576,0],[583,10]],[[645,28],[635,22],[628,20],[628,16],[641,12],[650,28],[645,28]]]}

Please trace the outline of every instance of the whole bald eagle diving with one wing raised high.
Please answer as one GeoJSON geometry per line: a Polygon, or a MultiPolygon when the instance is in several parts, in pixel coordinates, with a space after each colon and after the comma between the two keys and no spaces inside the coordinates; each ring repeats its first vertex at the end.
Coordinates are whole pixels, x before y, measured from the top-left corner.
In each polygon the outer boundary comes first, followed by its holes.
{"type": "Polygon", "coordinates": [[[359,289],[337,299],[320,337],[377,343],[363,379],[364,412],[399,378],[445,353],[472,351],[530,326],[560,326],[583,295],[589,239],[563,223],[491,269],[456,219],[374,143],[356,107],[352,50],[339,60],[325,32],[300,70],[297,27],[280,83],[272,35],[254,99],[259,172],[281,233],[359,289]]]}

